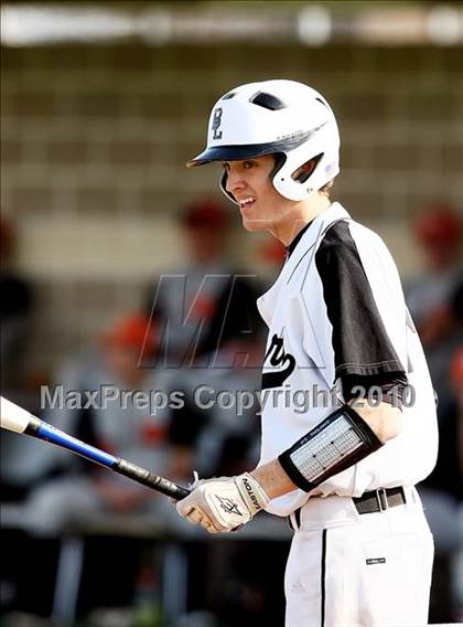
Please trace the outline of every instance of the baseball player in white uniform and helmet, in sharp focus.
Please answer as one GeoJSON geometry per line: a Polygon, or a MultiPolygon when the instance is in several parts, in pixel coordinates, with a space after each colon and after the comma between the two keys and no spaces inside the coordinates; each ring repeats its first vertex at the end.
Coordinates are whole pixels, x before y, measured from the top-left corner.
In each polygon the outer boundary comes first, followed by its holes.
{"type": "Polygon", "coordinates": [[[424,625],[433,543],[414,485],[435,463],[434,395],[386,245],[330,200],[338,149],[321,94],[267,81],[216,103],[187,163],[222,162],[245,229],[288,252],[258,300],[260,461],[195,482],[176,507],[211,533],[263,509],[289,517],[288,627],[424,625]]]}

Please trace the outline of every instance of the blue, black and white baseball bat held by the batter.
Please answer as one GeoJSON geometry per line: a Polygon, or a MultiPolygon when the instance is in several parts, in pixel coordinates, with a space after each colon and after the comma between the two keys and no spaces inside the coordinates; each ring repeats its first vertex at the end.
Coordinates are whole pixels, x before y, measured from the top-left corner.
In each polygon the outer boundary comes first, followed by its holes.
{"type": "Polygon", "coordinates": [[[90,446],[89,444],[86,444],[63,431],[53,427],[49,423],[41,421],[30,414],[26,410],[23,410],[3,396],[0,396],[0,405],[2,429],[25,434],[50,442],[51,444],[80,455],[95,464],[99,464],[105,468],[109,468],[109,470],[119,472],[119,475],[123,475],[128,479],[132,479],[132,481],[137,481],[152,490],[162,492],[177,501],[190,495],[190,490],[186,488],[177,486],[164,477],[154,475],[154,472],[151,472],[146,468],[141,468],[141,466],[137,466],[137,464],[132,464],[127,459],[115,457],[100,448],[90,446]]]}

